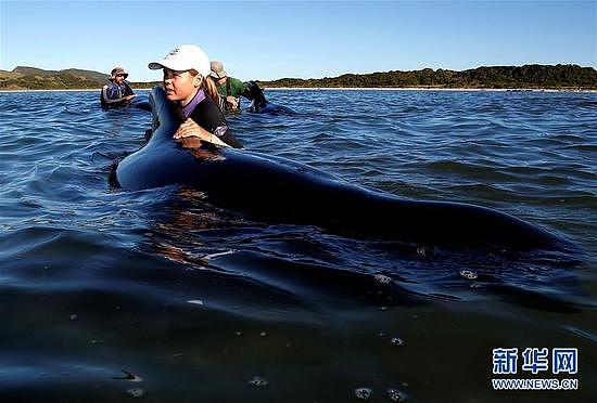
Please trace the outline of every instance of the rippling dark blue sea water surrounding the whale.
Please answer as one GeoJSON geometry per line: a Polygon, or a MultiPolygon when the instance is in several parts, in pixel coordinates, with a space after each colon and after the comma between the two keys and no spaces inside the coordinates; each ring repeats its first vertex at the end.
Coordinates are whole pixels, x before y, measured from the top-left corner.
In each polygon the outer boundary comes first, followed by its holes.
{"type": "Polygon", "coordinates": [[[113,188],[151,114],[98,95],[0,93],[0,401],[594,401],[596,93],[279,90],[294,113],[229,117],[250,150],[577,247],[512,261],[113,188]],[[516,375],[492,374],[497,348],[518,348],[516,375]],[[526,348],[576,348],[577,373],[523,370],[526,348]]]}

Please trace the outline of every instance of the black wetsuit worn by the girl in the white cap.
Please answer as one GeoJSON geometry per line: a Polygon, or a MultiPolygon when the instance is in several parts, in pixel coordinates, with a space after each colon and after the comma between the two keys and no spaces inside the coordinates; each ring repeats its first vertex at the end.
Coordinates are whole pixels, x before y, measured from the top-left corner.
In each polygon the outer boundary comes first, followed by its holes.
{"type": "MultiPolygon", "coordinates": [[[[187,120],[182,108],[177,104],[173,105],[180,123],[182,123],[187,120]]],[[[209,96],[205,96],[204,100],[196,104],[189,117],[193,119],[195,123],[207,130],[209,133],[217,135],[219,140],[231,147],[243,147],[242,143],[232,134],[224,114],[209,96]]]]}

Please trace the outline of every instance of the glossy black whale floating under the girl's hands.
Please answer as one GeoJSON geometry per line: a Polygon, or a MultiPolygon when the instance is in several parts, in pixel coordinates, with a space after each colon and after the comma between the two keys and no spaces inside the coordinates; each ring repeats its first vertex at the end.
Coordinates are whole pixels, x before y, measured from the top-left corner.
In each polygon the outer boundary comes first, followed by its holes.
{"type": "Polygon", "coordinates": [[[153,135],[117,166],[128,191],[170,184],[190,186],[207,202],[251,218],[317,225],[342,235],[436,246],[561,249],[568,242],[494,209],[410,200],[366,190],[303,164],[208,143],[173,140],[178,122],[163,89],[150,95],[153,135]]]}

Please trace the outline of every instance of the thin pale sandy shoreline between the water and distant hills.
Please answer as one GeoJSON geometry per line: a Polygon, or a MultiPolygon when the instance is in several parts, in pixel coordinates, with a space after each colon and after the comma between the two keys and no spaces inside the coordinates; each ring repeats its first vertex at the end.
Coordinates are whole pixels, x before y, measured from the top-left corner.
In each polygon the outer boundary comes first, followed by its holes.
{"type": "MultiPolygon", "coordinates": [[[[150,91],[151,88],[134,88],[135,91],[150,91]]],[[[575,90],[557,88],[429,88],[429,87],[264,87],[267,91],[454,91],[454,92],[597,92],[597,90],[575,90]]],[[[100,92],[101,89],[64,90],[0,90],[0,92],[100,92]]]]}

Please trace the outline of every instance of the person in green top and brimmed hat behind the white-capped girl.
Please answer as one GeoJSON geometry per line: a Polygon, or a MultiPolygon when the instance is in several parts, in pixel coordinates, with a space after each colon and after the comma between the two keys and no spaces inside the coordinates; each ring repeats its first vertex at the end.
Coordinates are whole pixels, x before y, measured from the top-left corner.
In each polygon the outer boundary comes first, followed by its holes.
{"type": "Polygon", "coordinates": [[[219,61],[213,61],[211,64],[212,73],[209,76],[218,88],[219,107],[221,110],[239,110],[241,105],[241,95],[253,101],[251,108],[259,112],[267,101],[259,86],[255,81],[242,82],[238,78],[229,77],[224,69],[224,64],[219,61]]]}

